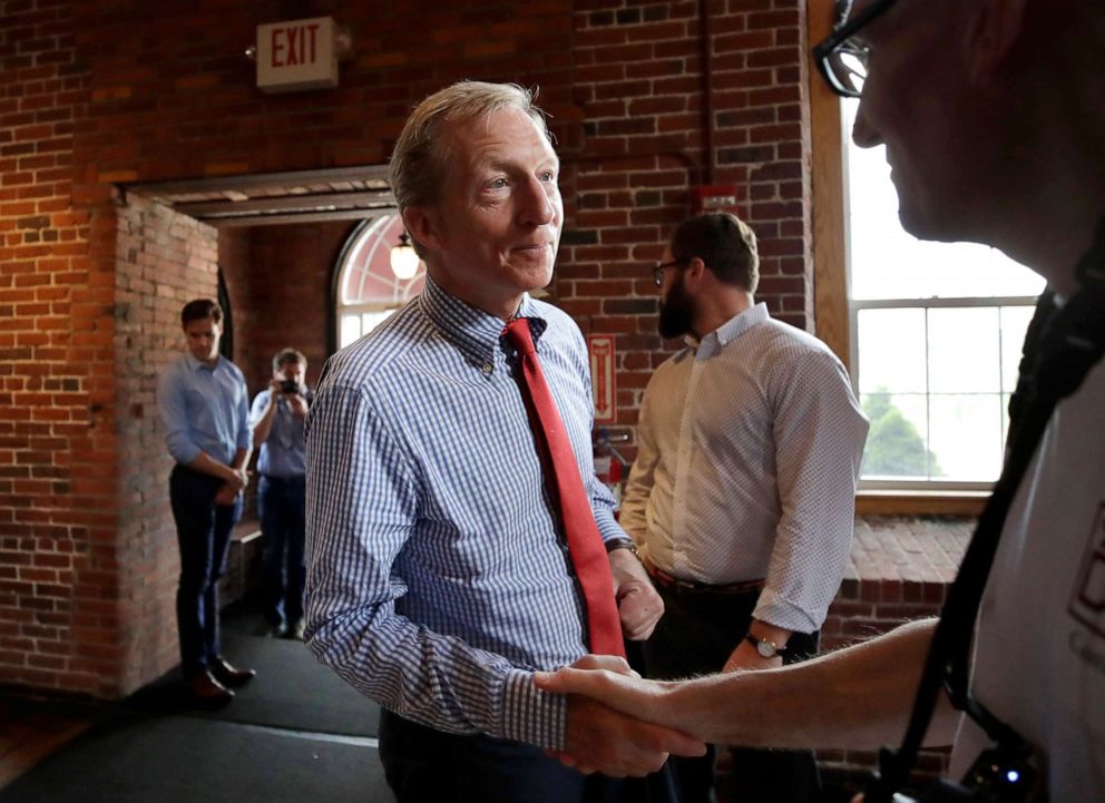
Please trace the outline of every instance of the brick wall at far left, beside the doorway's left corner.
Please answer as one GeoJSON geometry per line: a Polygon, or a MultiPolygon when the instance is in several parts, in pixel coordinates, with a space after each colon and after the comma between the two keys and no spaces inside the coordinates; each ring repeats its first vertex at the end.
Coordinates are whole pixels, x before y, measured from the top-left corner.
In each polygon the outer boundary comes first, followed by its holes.
{"type": "MultiPolygon", "coordinates": [[[[0,682],[116,686],[110,208],[74,203],[68,3],[0,3],[0,682]]],[[[109,190],[109,188],[107,188],[109,190]]],[[[107,193],[104,194],[107,197],[107,193]]]]}

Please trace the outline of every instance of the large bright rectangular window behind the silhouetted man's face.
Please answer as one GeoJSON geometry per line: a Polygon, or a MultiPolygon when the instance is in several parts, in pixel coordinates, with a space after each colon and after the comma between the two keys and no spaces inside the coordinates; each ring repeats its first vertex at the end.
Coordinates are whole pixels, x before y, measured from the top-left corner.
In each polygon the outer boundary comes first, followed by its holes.
{"type": "Polygon", "coordinates": [[[850,364],[871,419],[861,488],[986,488],[1044,280],[992,248],[907,234],[884,149],[848,136],[858,102],[842,118],[850,364]]]}

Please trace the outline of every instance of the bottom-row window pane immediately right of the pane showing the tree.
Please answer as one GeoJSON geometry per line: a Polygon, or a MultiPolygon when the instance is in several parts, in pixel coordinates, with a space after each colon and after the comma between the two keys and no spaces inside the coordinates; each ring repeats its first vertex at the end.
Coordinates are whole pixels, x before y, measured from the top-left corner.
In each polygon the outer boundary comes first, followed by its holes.
{"type": "Polygon", "coordinates": [[[940,394],[929,401],[930,449],[940,476],[992,481],[1001,471],[1000,393],[940,394]]]}

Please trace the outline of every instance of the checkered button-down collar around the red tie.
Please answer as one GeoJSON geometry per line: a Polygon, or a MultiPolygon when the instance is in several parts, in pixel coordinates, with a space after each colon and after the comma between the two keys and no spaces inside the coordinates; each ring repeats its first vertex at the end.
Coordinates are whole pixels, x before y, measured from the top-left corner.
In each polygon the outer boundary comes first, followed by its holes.
{"type": "MultiPolygon", "coordinates": [[[[461,301],[429,275],[419,295],[419,306],[441,336],[457,346],[468,362],[481,370],[495,365],[496,349],[501,350],[502,345],[502,319],[461,301]]],[[[536,344],[548,324],[528,293],[522,295],[517,316],[531,320],[536,344]]]]}

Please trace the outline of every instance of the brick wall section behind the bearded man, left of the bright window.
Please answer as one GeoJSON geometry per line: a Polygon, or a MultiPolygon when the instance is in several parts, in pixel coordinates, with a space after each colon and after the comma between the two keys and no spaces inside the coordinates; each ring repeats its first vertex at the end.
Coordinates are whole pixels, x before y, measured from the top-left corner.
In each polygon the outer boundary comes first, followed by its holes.
{"type": "Polygon", "coordinates": [[[805,3],[575,8],[584,138],[561,147],[574,192],[556,295],[585,332],[617,336],[618,424],[632,425],[674,345],[656,334],[647,266],[691,210],[693,187],[736,185],[739,212],[760,237],[757,297],[774,316],[812,325],[805,3]]]}

